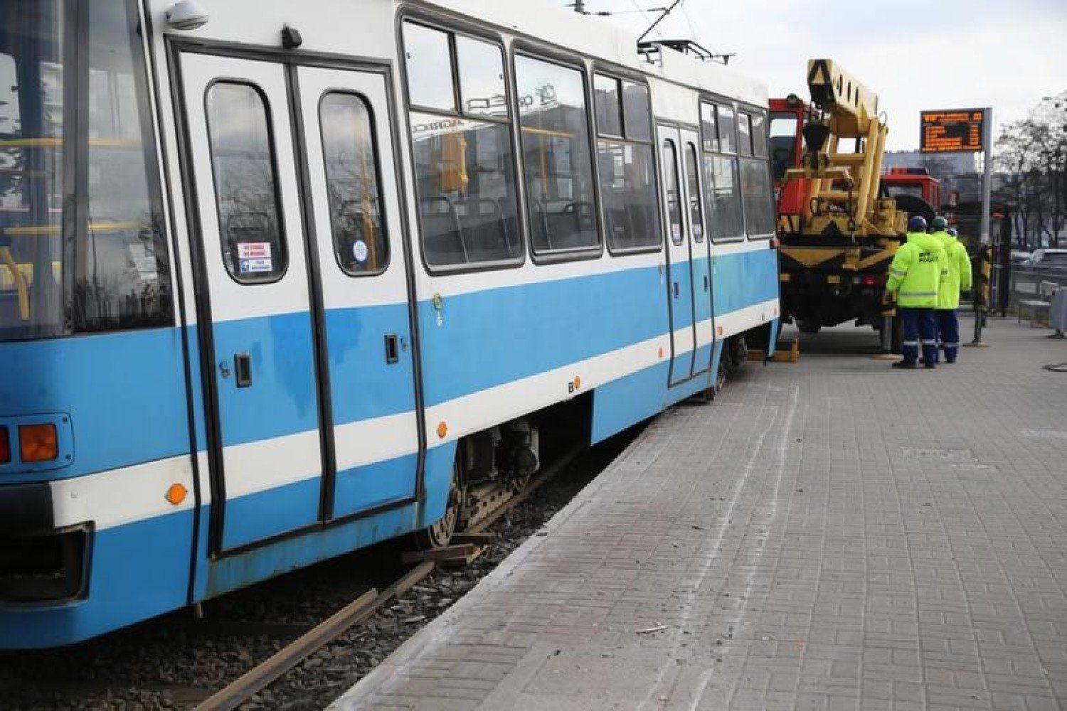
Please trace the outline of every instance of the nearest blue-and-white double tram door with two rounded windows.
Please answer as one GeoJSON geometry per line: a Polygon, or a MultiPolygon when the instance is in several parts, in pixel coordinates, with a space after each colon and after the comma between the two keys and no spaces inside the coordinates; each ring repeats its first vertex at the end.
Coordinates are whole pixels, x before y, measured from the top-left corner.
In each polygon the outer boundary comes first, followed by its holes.
{"type": "Polygon", "coordinates": [[[399,201],[384,190],[392,152],[376,151],[391,145],[383,75],[179,58],[211,551],[411,498],[405,269],[399,246],[387,254],[399,201]],[[361,466],[389,452],[388,471],[361,466]],[[338,486],[351,472],[363,486],[338,486]]]}

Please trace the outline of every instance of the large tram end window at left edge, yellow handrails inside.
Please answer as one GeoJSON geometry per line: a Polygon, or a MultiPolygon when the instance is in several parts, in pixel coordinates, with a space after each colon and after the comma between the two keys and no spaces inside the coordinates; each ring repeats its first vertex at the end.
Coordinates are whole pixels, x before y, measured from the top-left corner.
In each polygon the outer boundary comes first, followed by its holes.
{"type": "Polygon", "coordinates": [[[133,0],[0,0],[0,341],[172,322],[133,0]]]}

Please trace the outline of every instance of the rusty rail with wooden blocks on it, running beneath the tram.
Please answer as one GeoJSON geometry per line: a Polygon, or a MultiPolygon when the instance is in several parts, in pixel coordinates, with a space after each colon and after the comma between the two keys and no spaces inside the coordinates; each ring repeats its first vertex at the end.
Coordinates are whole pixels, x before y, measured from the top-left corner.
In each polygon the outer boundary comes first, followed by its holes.
{"type": "Polygon", "coordinates": [[[467,565],[477,560],[493,536],[485,531],[505,514],[526,501],[545,483],[552,481],[585,450],[575,446],[564,451],[550,466],[535,474],[517,492],[508,497],[500,505],[478,517],[465,531],[452,537],[453,544],[443,549],[409,554],[413,567],[399,579],[382,589],[371,588],[345,605],[341,610],[304,632],[260,664],[249,669],[239,678],[198,704],[196,711],[229,711],[252,699],[258,692],[284,677],[304,660],[351,628],[366,621],[389,602],[425,580],[439,566],[467,565]]]}

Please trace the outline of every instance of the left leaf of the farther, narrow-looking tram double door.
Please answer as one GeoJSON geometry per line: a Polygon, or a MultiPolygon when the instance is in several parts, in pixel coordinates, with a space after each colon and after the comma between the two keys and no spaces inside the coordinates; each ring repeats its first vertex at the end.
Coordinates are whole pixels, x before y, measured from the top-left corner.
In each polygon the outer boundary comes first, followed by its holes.
{"type": "Polygon", "coordinates": [[[682,173],[681,131],[672,126],[657,128],[663,173],[664,221],[667,232],[667,303],[671,329],[671,385],[692,374],[696,345],[691,244],[686,216],[685,182],[682,173]]]}

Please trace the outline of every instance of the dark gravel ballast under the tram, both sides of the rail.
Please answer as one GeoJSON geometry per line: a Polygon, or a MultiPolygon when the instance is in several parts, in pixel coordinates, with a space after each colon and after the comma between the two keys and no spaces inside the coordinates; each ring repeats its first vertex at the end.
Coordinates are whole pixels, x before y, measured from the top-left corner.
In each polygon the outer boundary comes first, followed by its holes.
{"type": "MultiPolygon", "coordinates": [[[[505,514],[472,565],[437,569],[327,645],[242,709],[321,709],[448,609],[567,504],[635,432],[586,450],[505,514]]],[[[345,555],[73,647],[0,652],[3,708],[63,711],[191,709],[370,587],[402,575],[403,542],[345,555]]]]}

